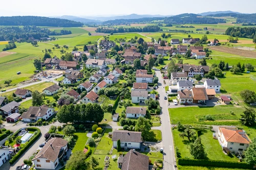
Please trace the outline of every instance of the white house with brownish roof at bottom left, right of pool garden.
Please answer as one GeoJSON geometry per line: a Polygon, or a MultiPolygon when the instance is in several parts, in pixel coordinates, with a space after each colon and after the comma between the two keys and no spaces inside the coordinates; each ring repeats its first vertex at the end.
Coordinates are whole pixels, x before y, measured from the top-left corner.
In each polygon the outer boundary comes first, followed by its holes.
{"type": "Polygon", "coordinates": [[[68,151],[68,141],[55,137],[42,147],[32,159],[35,169],[56,169],[68,151]]]}

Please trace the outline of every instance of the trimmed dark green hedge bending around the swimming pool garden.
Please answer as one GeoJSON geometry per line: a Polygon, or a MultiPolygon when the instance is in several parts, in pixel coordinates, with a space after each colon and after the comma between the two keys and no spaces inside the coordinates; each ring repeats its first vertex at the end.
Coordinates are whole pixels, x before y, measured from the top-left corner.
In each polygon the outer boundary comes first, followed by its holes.
{"type": "Polygon", "coordinates": [[[19,150],[19,152],[14,155],[12,157],[12,159],[9,161],[10,164],[12,165],[20,156],[22,156],[22,154],[30,147],[31,144],[34,143],[34,141],[41,135],[41,131],[40,129],[38,128],[22,128],[22,129],[19,129],[17,132],[15,132],[13,135],[16,135],[20,130],[23,130],[23,129],[28,129],[28,131],[31,131],[31,132],[35,132],[37,131],[37,134],[33,135],[31,138],[30,138],[30,141],[28,141],[28,143],[26,143],[22,149],[19,150]]]}

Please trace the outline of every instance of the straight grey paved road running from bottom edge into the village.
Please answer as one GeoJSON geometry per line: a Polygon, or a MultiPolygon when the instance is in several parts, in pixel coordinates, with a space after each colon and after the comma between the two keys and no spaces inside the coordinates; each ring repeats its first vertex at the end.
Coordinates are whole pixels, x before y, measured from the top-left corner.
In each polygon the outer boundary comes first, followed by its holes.
{"type": "Polygon", "coordinates": [[[175,162],[175,154],[174,154],[174,141],[173,134],[170,125],[170,117],[168,112],[168,103],[164,100],[165,88],[163,84],[163,78],[161,72],[156,70],[156,75],[159,79],[158,81],[158,93],[160,94],[159,103],[161,106],[161,121],[162,121],[162,139],[163,139],[163,159],[164,159],[164,170],[173,170],[175,162]]]}

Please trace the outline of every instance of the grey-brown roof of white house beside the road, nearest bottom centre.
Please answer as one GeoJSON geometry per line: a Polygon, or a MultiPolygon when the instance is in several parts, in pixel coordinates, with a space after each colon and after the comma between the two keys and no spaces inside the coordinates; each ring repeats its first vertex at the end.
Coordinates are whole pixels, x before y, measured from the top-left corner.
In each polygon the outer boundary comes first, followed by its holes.
{"type": "Polygon", "coordinates": [[[141,142],[141,132],[115,130],[113,132],[112,141],[117,141],[118,139],[125,142],[141,142]]]}

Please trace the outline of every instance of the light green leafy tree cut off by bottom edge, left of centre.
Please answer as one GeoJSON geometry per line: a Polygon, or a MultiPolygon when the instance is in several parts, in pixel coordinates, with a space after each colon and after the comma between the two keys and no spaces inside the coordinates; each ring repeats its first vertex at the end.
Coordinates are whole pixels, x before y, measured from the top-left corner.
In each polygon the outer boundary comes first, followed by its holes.
{"type": "Polygon", "coordinates": [[[68,170],[88,170],[90,168],[90,163],[86,161],[86,154],[83,151],[76,151],[72,154],[66,164],[66,169],[68,170]]]}

